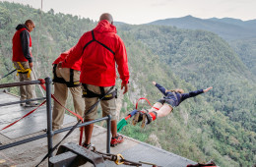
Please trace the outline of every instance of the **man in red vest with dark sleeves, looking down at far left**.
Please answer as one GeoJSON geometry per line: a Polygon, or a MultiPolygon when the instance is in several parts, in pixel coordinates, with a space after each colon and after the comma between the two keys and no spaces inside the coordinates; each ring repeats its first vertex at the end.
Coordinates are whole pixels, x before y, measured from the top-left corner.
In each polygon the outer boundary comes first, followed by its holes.
{"type": "MultiPolygon", "coordinates": [[[[20,76],[20,82],[32,81],[32,37],[30,32],[33,30],[32,20],[26,21],[24,25],[18,25],[17,31],[13,36],[13,63],[20,76]]],[[[21,100],[36,98],[34,85],[20,86],[21,100]]],[[[22,106],[37,106],[36,101],[21,103],[22,106]]]]}

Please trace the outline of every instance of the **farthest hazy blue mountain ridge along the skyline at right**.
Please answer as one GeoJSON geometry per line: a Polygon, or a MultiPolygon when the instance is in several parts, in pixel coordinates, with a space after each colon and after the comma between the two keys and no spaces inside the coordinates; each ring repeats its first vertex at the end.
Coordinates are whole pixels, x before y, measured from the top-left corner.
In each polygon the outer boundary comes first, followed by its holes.
{"type": "Polygon", "coordinates": [[[239,22],[236,19],[200,19],[192,16],[158,20],[147,25],[174,26],[177,28],[203,29],[220,34],[226,40],[256,36],[256,20],[239,22]],[[232,22],[230,22],[232,21],[232,22]],[[233,24],[235,23],[235,24],[233,24]],[[243,24],[240,24],[243,23],[243,24]],[[255,24],[254,24],[255,23],[255,24]],[[249,27],[248,25],[252,25],[249,27]],[[236,34],[235,36],[233,34],[236,34]]]}

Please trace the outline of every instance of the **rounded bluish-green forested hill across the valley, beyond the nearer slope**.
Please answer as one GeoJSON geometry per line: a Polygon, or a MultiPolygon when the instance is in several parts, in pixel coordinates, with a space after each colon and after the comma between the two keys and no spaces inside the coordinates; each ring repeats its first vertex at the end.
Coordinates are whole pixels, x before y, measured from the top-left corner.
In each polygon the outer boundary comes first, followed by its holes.
{"type": "Polygon", "coordinates": [[[256,94],[250,92],[255,87],[255,77],[222,38],[211,32],[169,27],[138,26],[130,31],[182,80],[197,87],[217,87],[212,102],[233,121],[238,121],[241,110],[247,110],[249,117],[242,124],[256,131],[256,118],[252,117],[256,94]],[[253,124],[248,126],[253,118],[253,124]]]}

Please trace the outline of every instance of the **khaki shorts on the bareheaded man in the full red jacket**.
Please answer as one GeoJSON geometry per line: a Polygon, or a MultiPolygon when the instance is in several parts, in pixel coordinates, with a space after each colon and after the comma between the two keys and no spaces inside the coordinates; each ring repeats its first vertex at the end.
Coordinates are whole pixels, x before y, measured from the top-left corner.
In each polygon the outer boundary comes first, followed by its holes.
{"type": "MultiPolygon", "coordinates": [[[[99,86],[93,85],[93,84],[86,84],[86,85],[89,90],[95,92],[96,94],[100,94],[99,86]]],[[[84,86],[82,86],[82,87],[84,89],[84,86]]],[[[104,87],[104,92],[109,90],[110,87],[111,86],[104,87]]],[[[114,88],[112,91],[114,91],[114,88]]],[[[98,97],[93,97],[93,98],[85,97],[85,103],[86,103],[86,112],[85,113],[87,113],[89,111],[89,109],[96,103],[97,100],[98,100],[98,97]]],[[[110,100],[100,100],[100,106],[102,108],[102,117],[110,115],[111,120],[116,120],[116,102],[115,102],[115,100],[116,100],[115,98],[112,98],[110,100]]],[[[96,118],[97,118],[97,105],[91,111],[91,113],[86,116],[86,119],[95,120],[96,118]]]]}

